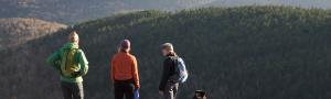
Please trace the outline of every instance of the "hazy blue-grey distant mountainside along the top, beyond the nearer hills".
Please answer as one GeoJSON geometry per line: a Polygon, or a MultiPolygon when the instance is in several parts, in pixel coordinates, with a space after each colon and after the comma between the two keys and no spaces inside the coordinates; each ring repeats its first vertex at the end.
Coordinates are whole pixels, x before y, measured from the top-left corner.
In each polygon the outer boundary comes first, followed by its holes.
{"type": "Polygon", "coordinates": [[[295,6],[331,9],[331,0],[0,0],[0,18],[38,18],[66,24],[137,10],[295,6]]]}

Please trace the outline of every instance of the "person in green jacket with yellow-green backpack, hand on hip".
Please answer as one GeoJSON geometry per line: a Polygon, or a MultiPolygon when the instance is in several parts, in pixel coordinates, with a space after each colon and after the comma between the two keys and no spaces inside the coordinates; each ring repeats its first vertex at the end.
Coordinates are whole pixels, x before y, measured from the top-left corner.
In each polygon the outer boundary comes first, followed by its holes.
{"type": "Polygon", "coordinates": [[[84,99],[83,76],[87,74],[88,62],[79,50],[78,34],[73,31],[70,42],[47,58],[47,64],[61,74],[64,99],[84,99]]]}

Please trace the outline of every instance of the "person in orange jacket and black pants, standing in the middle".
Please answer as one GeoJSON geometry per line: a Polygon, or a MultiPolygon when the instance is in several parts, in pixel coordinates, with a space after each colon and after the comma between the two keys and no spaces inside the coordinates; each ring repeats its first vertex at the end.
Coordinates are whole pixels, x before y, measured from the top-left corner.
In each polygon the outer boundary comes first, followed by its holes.
{"type": "Polygon", "coordinates": [[[120,42],[118,53],[111,59],[111,80],[115,99],[134,99],[135,90],[140,88],[137,59],[130,52],[130,41],[120,42]]]}

